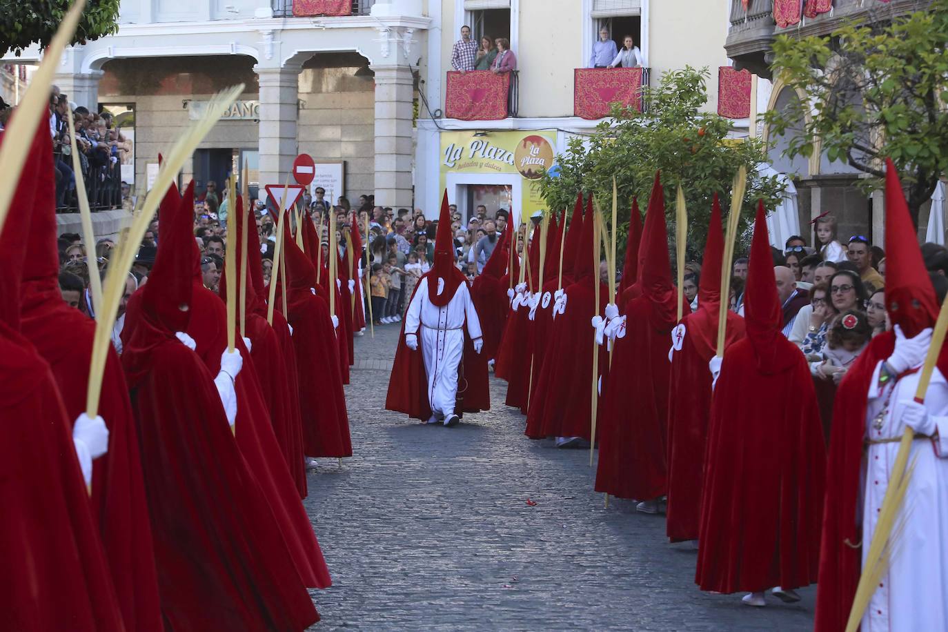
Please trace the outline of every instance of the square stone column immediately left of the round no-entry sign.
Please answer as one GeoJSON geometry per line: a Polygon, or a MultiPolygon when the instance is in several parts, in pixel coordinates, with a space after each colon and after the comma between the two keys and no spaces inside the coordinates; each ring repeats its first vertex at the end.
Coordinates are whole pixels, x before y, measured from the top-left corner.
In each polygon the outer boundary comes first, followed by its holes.
{"type": "Polygon", "coordinates": [[[298,64],[282,68],[254,66],[260,80],[261,189],[283,184],[297,156],[300,68],[298,64]]]}

